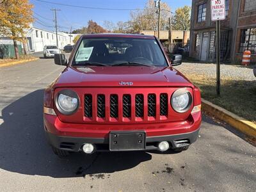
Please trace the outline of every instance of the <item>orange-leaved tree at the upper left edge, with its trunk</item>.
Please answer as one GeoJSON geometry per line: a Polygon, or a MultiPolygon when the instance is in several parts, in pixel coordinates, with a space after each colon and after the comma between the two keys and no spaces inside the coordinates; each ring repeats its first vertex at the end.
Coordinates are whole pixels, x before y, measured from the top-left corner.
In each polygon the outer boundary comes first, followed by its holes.
{"type": "Polygon", "coordinates": [[[26,30],[33,22],[32,8],[33,4],[30,4],[29,0],[0,0],[0,34],[13,40],[17,60],[19,59],[17,41],[25,40],[26,30]]]}

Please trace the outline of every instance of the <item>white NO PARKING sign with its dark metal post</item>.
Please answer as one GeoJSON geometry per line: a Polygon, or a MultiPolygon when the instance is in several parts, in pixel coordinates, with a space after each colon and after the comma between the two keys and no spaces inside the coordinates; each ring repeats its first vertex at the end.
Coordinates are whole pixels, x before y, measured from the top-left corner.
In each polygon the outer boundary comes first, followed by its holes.
{"type": "Polygon", "coordinates": [[[211,0],[211,18],[216,20],[216,93],[220,96],[220,20],[224,20],[225,0],[211,0]]]}

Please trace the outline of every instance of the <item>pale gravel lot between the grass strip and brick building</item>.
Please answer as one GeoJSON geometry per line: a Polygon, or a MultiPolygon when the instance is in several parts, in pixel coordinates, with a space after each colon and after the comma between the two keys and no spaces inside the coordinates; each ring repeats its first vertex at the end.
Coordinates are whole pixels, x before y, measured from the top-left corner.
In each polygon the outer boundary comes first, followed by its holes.
{"type": "MultiPolygon", "coordinates": [[[[210,78],[216,78],[216,64],[213,63],[182,63],[177,70],[184,74],[195,73],[210,78]]],[[[225,65],[221,64],[221,79],[234,79],[244,81],[255,81],[253,75],[253,65],[244,67],[242,65],[225,65]]]]}

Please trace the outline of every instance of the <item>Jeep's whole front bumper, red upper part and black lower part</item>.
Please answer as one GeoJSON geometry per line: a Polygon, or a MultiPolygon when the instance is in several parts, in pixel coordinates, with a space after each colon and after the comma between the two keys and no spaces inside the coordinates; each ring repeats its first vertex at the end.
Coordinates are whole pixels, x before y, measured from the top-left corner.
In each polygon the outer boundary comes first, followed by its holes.
{"type": "Polygon", "coordinates": [[[182,122],[150,124],[70,124],[58,116],[44,114],[44,127],[49,144],[62,150],[79,152],[84,143],[92,143],[97,151],[109,151],[109,132],[145,131],[145,150],[156,150],[157,143],[168,141],[171,148],[180,147],[177,140],[196,141],[202,117],[195,113],[182,122]]]}

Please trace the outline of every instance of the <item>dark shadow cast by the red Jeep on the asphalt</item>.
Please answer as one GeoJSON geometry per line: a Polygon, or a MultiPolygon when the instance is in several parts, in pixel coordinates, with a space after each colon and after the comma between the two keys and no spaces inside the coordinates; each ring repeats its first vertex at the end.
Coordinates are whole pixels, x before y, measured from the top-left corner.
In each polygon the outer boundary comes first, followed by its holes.
{"type": "MultiPolygon", "coordinates": [[[[59,159],[47,144],[43,126],[44,90],[12,102],[2,111],[0,168],[8,172],[50,177],[79,177],[113,173],[137,166],[152,157],[147,152],[72,154],[59,159]]],[[[103,175],[103,176],[102,176],[103,175]]]]}

